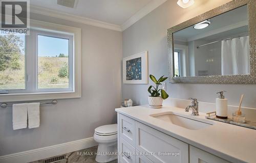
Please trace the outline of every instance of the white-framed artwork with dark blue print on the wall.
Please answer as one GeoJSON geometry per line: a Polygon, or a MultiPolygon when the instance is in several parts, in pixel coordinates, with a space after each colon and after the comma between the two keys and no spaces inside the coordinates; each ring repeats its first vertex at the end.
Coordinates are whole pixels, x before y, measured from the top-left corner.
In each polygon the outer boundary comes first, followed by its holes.
{"type": "Polygon", "coordinates": [[[123,83],[147,84],[147,51],[123,58],[123,83]]]}

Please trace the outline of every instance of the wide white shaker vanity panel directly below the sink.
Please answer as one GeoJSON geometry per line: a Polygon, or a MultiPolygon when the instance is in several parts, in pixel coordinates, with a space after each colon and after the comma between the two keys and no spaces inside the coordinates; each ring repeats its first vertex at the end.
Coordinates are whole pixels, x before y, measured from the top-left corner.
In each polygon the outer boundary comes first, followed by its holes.
{"type": "Polygon", "coordinates": [[[136,150],[146,152],[153,162],[188,163],[188,144],[158,130],[135,123],[136,150]]]}

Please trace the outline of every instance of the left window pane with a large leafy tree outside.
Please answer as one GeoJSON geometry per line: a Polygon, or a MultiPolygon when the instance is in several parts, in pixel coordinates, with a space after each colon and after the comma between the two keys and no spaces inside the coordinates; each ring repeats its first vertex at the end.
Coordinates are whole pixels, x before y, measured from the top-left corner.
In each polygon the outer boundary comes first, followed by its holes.
{"type": "Polygon", "coordinates": [[[25,87],[25,35],[0,34],[0,92],[25,87]]]}

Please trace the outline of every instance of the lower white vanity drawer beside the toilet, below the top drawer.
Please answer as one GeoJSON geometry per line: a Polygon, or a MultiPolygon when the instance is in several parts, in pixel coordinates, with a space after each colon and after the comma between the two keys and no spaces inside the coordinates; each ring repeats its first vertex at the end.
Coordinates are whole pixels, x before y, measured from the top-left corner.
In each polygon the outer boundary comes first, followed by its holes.
{"type": "Polygon", "coordinates": [[[131,146],[129,143],[124,141],[120,137],[119,150],[122,155],[120,155],[119,159],[121,163],[135,163],[135,148],[131,146]]]}

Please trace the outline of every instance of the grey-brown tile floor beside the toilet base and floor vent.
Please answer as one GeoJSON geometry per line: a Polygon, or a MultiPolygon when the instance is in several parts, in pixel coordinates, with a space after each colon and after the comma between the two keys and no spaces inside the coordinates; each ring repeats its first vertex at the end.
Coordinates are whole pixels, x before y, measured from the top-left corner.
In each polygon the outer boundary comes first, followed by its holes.
{"type": "MultiPolygon", "coordinates": [[[[77,152],[84,152],[84,153],[96,153],[97,152],[97,148],[98,146],[95,147],[91,147],[91,148],[87,148],[87,149],[83,149],[80,151],[75,151],[75,152],[71,152],[71,153],[66,153],[66,158],[56,161],[56,163],[96,163],[95,161],[95,157],[96,155],[77,155],[77,152]]],[[[52,158],[52,157],[50,157],[52,158]]],[[[46,158],[49,159],[49,158],[46,158]]],[[[37,161],[33,161],[30,163],[45,163],[46,159],[41,159],[41,160],[37,160],[37,161]]],[[[117,159],[110,161],[108,163],[117,163],[117,159]]]]}

